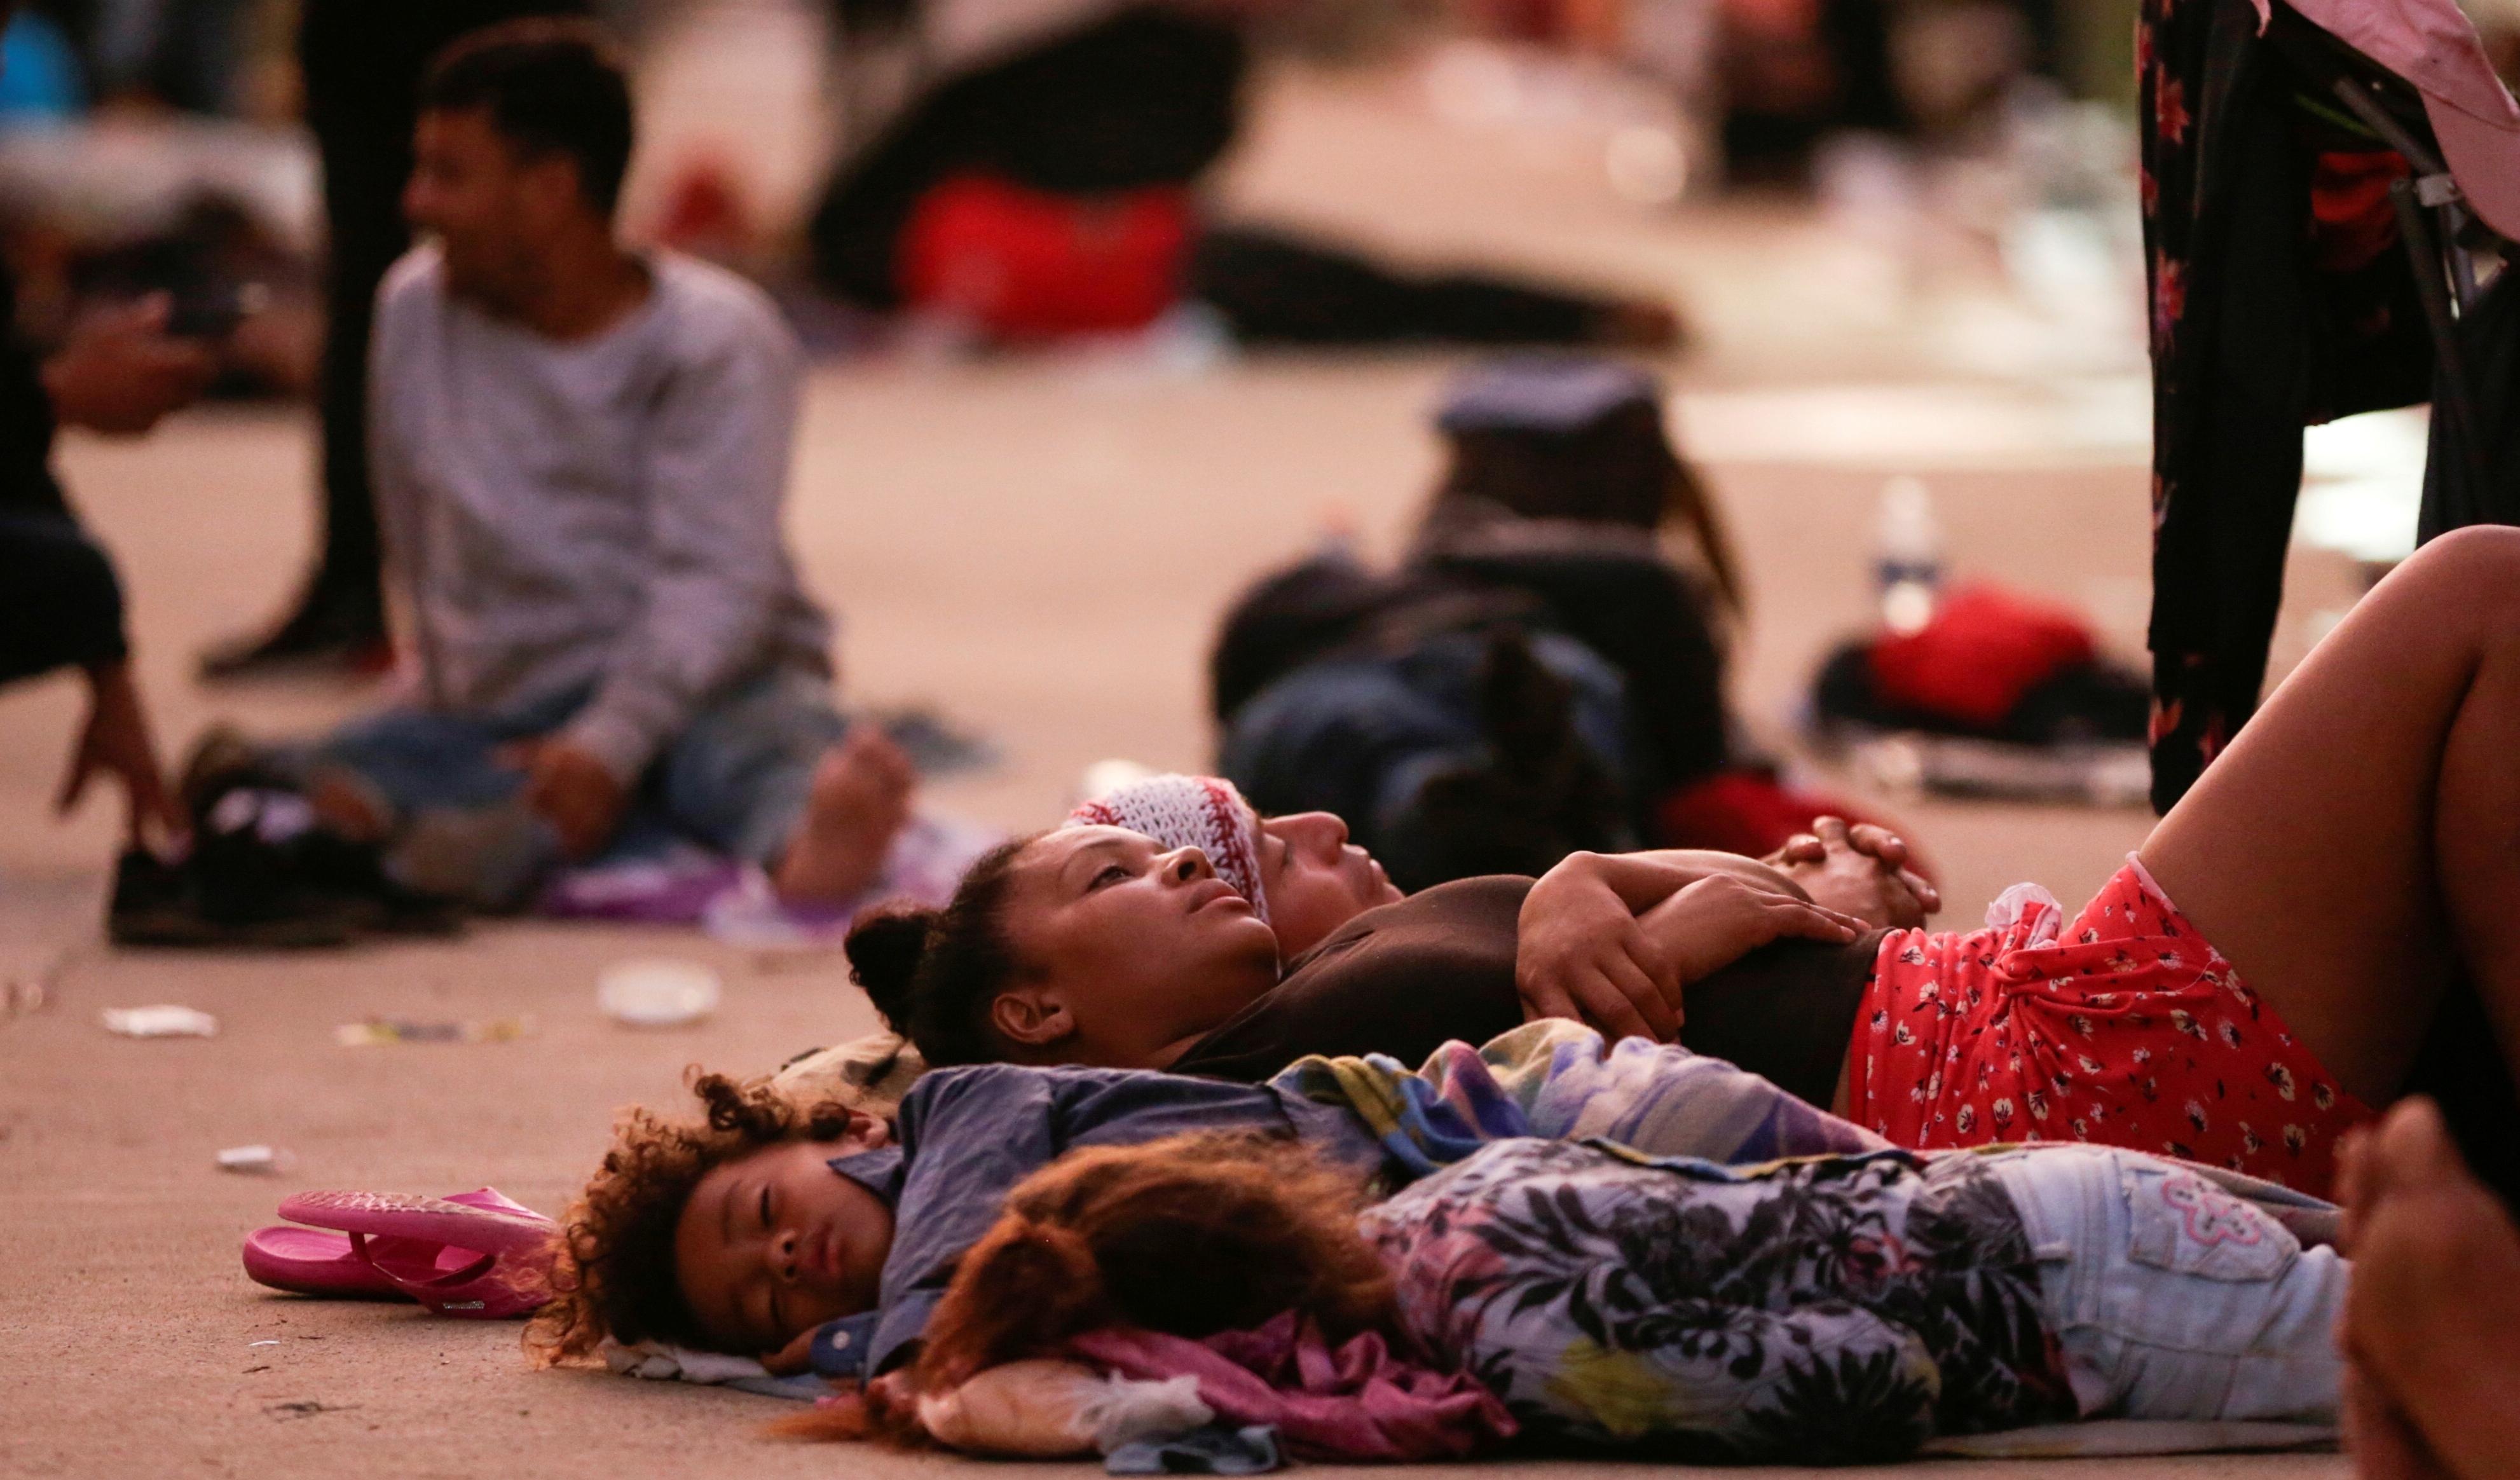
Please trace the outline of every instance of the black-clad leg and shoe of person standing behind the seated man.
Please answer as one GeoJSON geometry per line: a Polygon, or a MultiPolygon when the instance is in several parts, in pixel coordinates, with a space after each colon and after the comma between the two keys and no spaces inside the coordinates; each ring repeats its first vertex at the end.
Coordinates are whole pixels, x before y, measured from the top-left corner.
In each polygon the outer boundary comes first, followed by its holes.
{"type": "Polygon", "coordinates": [[[391,666],[375,497],[368,487],[368,335],[375,285],[411,250],[403,182],[418,83],[451,40],[519,15],[575,15],[585,0],[305,0],[297,58],[323,159],[328,229],[323,550],[277,628],[212,648],[204,678],[275,671],[378,673],[391,666]]]}

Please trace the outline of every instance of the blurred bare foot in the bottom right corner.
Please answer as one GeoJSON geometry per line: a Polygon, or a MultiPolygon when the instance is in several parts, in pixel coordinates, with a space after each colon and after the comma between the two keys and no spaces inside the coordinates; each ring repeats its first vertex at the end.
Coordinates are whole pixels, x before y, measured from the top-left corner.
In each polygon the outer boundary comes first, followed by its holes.
{"type": "Polygon", "coordinates": [[[2354,1137],[2354,1288],[2339,1341],[2366,1480],[2520,1475],[2520,1228],[2467,1172],[2429,1099],[2354,1137]]]}

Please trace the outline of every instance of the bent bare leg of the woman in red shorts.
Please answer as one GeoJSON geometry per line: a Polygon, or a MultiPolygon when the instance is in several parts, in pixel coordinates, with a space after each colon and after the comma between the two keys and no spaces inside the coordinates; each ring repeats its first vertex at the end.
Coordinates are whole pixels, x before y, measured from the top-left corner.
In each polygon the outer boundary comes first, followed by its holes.
{"type": "Polygon", "coordinates": [[[2344,1089],[2386,1104],[2460,958],[2520,1061],[2512,756],[2520,529],[2460,529],[2328,633],[2142,860],[2344,1089]]]}

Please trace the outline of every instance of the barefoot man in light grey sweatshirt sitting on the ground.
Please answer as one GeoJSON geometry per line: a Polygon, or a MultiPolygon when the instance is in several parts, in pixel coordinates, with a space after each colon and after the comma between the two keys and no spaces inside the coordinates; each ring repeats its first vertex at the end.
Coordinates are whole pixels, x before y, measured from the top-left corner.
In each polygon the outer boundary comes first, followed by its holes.
{"type": "Polygon", "coordinates": [[[781,537],[801,350],[743,280],[615,240],[630,136],[580,23],[428,73],[403,209],[431,242],[378,292],[370,378],[418,698],[307,751],[305,784],[401,882],[476,903],[668,835],[839,903],[912,777],[834,711],[781,537]]]}

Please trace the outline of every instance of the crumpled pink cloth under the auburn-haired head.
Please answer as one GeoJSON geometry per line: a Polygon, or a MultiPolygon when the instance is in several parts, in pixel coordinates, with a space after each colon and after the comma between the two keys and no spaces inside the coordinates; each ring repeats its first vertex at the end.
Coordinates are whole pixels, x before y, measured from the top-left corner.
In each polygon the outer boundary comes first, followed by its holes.
{"type": "Polygon", "coordinates": [[[1200,1402],[1232,1425],[1275,1425],[1300,1460],[1464,1460],[1515,1437],[1515,1417],[1467,1372],[1396,1356],[1378,1334],[1336,1351],[1288,1311],[1257,1331],[1205,1341],[1094,1331],[1068,1351],[1129,1379],[1197,1377],[1200,1402]]]}

